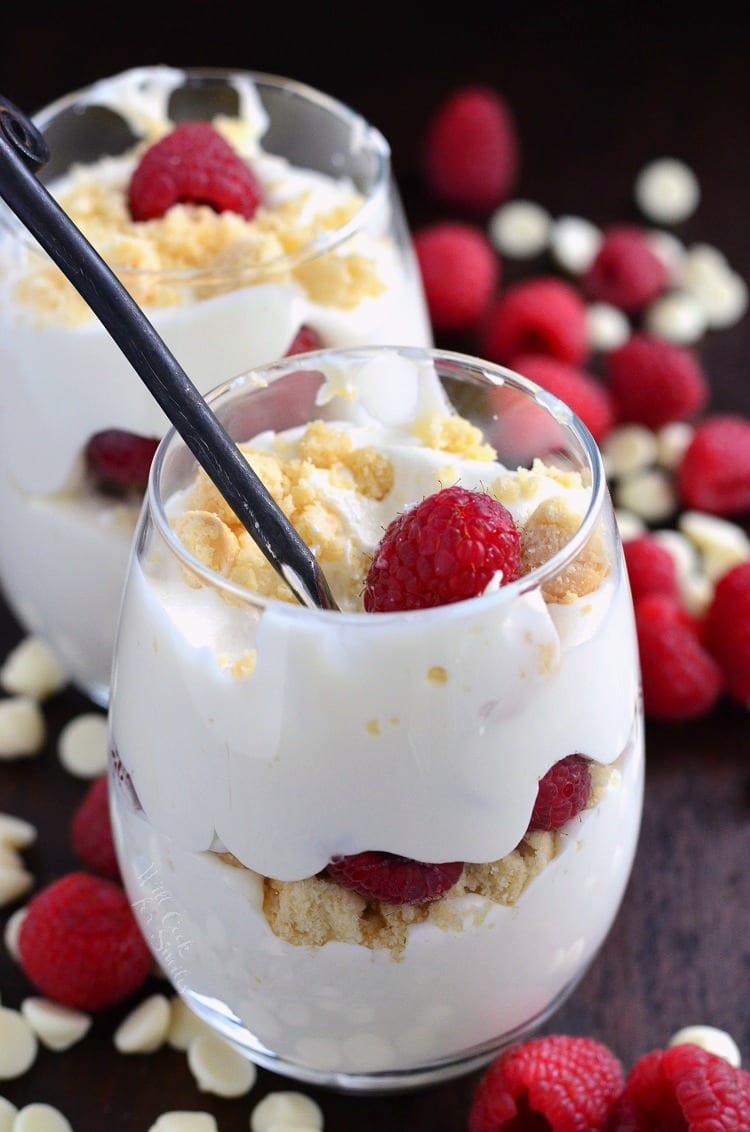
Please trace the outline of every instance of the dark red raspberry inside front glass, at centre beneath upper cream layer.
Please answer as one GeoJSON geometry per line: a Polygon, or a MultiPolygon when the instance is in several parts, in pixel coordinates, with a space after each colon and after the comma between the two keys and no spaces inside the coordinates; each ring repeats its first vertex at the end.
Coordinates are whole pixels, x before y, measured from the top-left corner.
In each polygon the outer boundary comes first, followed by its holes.
{"type": "Polygon", "coordinates": [[[421,904],[451,889],[463,868],[463,861],[429,865],[390,852],[356,852],[350,857],[334,857],[326,873],[368,900],[421,904]]]}

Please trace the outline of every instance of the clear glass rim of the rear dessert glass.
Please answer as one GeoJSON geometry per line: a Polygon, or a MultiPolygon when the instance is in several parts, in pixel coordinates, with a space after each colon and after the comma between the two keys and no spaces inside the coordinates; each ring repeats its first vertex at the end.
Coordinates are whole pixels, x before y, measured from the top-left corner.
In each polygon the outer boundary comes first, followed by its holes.
{"type": "MultiPolygon", "coordinates": [[[[381,199],[388,194],[389,190],[391,169],[390,145],[378,127],[373,126],[372,122],[348,105],[348,103],[298,79],[286,78],[283,75],[276,75],[270,71],[257,71],[238,67],[161,67],[158,65],[131,67],[122,71],[117,71],[113,75],[105,76],[103,79],[96,79],[86,86],[78,87],[76,91],[61,95],[53,102],[50,102],[40,110],[35,111],[31,115],[32,121],[42,132],[44,132],[45,128],[49,127],[55,117],[64,113],[66,111],[75,110],[78,102],[87,98],[89,93],[96,87],[97,83],[105,83],[110,79],[120,79],[128,75],[137,75],[139,72],[153,74],[165,69],[173,70],[182,75],[186,79],[186,85],[190,79],[205,79],[209,83],[223,82],[227,85],[231,85],[231,80],[233,78],[250,79],[258,88],[267,87],[279,92],[285,91],[304,102],[317,105],[331,117],[337,118],[343,122],[348,121],[352,127],[356,127],[362,146],[364,147],[367,144],[376,158],[376,174],[372,186],[368,192],[361,192],[359,189],[356,190],[356,195],[360,197],[362,203],[357,207],[356,212],[344,224],[340,224],[335,229],[326,230],[319,235],[313,237],[300,248],[295,248],[292,251],[285,251],[281,256],[276,256],[273,259],[266,259],[259,264],[251,264],[244,267],[242,265],[232,264],[231,266],[218,269],[210,266],[154,269],[147,267],[130,267],[107,258],[106,261],[110,267],[118,271],[123,277],[127,278],[152,280],[167,284],[178,282],[201,282],[214,276],[222,281],[236,278],[238,276],[247,276],[251,280],[259,275],[268,275],[273,272],[283,272],[285,269],[298,267],[301,264],[309,263],[310,260],[316,259],[338,247],[340,243],[346,242],[346,240],[350,240],[354,234],[356,234],[356,232],[367,226],[370,215],[377,211],[381,199]]],[[[175,89],[179,89],[179,87],[175,89]]],[[[84,102],[84,104],[97,105],[97,103],[94,102],[84,102]]],[[[135,144],[138,143],[136,142],[135,144]]],[[[35,255],[40,257],[44,256],[44,252],[37,241],[20,224],[12,213],[6,214],[6,209],[0,209],[0,228],[5,228],[7,232],[18,240],[19,243],[25,245],[35,255]]]]}

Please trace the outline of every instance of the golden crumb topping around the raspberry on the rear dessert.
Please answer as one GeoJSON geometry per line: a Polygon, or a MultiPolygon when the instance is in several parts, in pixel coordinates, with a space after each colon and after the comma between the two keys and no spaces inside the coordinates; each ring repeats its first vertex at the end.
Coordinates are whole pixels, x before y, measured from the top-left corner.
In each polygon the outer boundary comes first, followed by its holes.
{"type": "MultiPolygon", "coordinates": [[[[221,129],[231,142],[224,121],[221,129]]],[[[133,162],[143,148],[133,148],[133,162]]],[[[277,204],[262,203],[251,220],[207,205],[178,204],[158,220],[132,221],[123,175],[100,177],[95,166],[78,166],[59,200],[141,306],[181,306],[273,281],[295,283],[311,301],[348,310],[385,290],[373,256],[354,241],[317,251],[362,207],[362,198],[350,189],[340,188],[335,203],[317,211],[305,190],[277,204]]],[[[16,297],[40,321],[79,325],[93,317],[48,260],[29,260],[16,297]]]]}

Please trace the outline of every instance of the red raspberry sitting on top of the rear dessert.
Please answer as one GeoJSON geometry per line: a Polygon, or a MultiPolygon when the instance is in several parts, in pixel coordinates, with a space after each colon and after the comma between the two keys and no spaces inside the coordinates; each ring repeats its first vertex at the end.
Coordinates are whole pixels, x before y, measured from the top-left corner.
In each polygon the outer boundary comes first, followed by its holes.
{"type": "Polygon", "coordinates": [[[157,220],[172,205],[208,205],[251,220],[260,186],[210,122],[180,122],[138,162],[128,186],[132,220],[157,220]]]}

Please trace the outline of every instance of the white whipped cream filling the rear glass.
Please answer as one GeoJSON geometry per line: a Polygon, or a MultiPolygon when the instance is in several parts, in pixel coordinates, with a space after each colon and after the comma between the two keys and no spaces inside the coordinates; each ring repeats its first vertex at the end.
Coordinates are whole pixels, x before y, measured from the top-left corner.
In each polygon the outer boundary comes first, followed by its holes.
{"type": "MultiPolygon", "coordinates": [[[[135,69],[95,84],[76,101],[115,110],[136,137],[153,140],[169,130],[169,97],[183,82],[184,74],[172,68],[135,69]]],[[[268,115],[257,91],[241,75],[233,85],[238,118],[223,119],[223,128],[252,163],[268,214],[298,201],[298,226],[312,225],[317,215],[335,214],[339,204],[351,201],[348,181],[266,153],[268,115]]],[[[42,125],[54,113],[55,108],[43,112],[42,125]]],[[[352,144],[365,146],[369,130],[355,119],[352,144]]],[[[138,152],[75,166],[50,188],[79,203],[90,191],[122,192],[138,152]]],[[[123,266],[123,248],[132,250],[133,243],[144,263],[150,261],[152,224],[141,224],[135,240],[131,232],[127,239],[109,235],[101,225],[94,225],[89,238],[204,394],[281,357],[303,324],[326,345],[431,343],[419,271],[402,239],[406,228],[393,185],[383,183],[339,233],[326,230],[309,248],[298,249],[294,263],[305,261],[304,275],[290,260],[290,271],[276,277],[273,265],[256,263],[257,251],[255,267],[243,266],[239,217],[236,249],[227,247],[224,267],[213,275],[209,268],[160,273],[148,266],[130,268],[129,260],[123,266]],[[317,258],[321,250],[326,256],[317,258]],[[347,256],[367,265],[378,293],[362,293],[356,302],[339,302],[337,291],[325,293],[320,280],[327,275],[316,276],[316,264],[347,256]]],[[[138,504],[129,506],[123,520],[121,503],[92,492],[83,452],[101,430],[158,437],[169,422],[90,311],[80,300],[78,306],[69,301],[71,290],[59,292],[55,274],[15,222],[0,224],[0,500],[16,532],[12,546],[8,540],[0,546],[0,576],[23,623],[44,635],[77,684],[105,700],[138,504]]],[[[63,283],[61,276],[59,281],[63,283]]]]}

